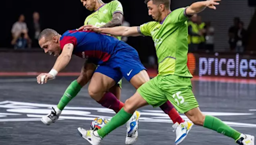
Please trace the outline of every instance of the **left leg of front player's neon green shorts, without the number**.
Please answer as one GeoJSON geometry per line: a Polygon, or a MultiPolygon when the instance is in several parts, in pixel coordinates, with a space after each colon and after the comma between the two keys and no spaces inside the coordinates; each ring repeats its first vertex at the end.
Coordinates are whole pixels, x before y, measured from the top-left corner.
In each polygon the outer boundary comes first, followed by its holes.
{"type": "Polygon", "coordinates": [[[159,88],[159,83],[159,77],[156,76],[141,85],[137,90],[141,97],[153,107],[159,107],[167,101],[165,94],[162,92],[161,88],[159,88]]]}

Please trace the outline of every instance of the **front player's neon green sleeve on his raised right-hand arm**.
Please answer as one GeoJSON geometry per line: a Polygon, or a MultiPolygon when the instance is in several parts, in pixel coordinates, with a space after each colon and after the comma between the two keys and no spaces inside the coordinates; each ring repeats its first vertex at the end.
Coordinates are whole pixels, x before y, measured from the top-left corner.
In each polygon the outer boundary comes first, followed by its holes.
{"type": "Polygon", "coordinates": [[[189,19],[189,15],[186,14],[186,8],[178,8],[172,12],[172,20],[174,22],[184,22],[189,19]]]}

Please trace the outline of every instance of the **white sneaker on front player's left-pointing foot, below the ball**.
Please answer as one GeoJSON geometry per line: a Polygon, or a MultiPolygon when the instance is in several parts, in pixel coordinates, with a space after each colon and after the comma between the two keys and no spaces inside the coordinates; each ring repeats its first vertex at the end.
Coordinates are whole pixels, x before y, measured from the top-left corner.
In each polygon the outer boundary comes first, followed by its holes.
{"type": "Polygon", "coordinates": [[[99,145],[102,138],[99,136],[97,130],[85,130],[81,127],[77,128],[78,134],[92,145],[99,145]]]}

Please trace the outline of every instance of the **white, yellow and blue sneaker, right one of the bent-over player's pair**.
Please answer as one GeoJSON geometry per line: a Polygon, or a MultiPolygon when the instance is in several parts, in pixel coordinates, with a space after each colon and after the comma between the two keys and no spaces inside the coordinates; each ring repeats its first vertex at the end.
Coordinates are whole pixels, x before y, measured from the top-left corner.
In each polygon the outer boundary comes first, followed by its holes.
{"type": "Polygon", "coordinates": [[[180,144],[188,135],[188,132],[193,127],[193,123],[185,121],[183,123],[175,123],[172,127],[174,128],[173,132],[176,132],[175,144],[180,144]]]}

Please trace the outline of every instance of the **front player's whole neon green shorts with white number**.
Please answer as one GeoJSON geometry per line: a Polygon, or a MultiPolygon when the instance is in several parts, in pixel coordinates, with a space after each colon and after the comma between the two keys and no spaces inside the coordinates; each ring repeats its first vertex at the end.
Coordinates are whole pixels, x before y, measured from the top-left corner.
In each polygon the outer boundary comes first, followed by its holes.
{"type": "Polygon", "coordinates": [[[190,79],[175,75],[156,76],[137,91],[153,107],[159,107],[169,100],[177,111],[186,113],[198,107],[190,79]]]}

